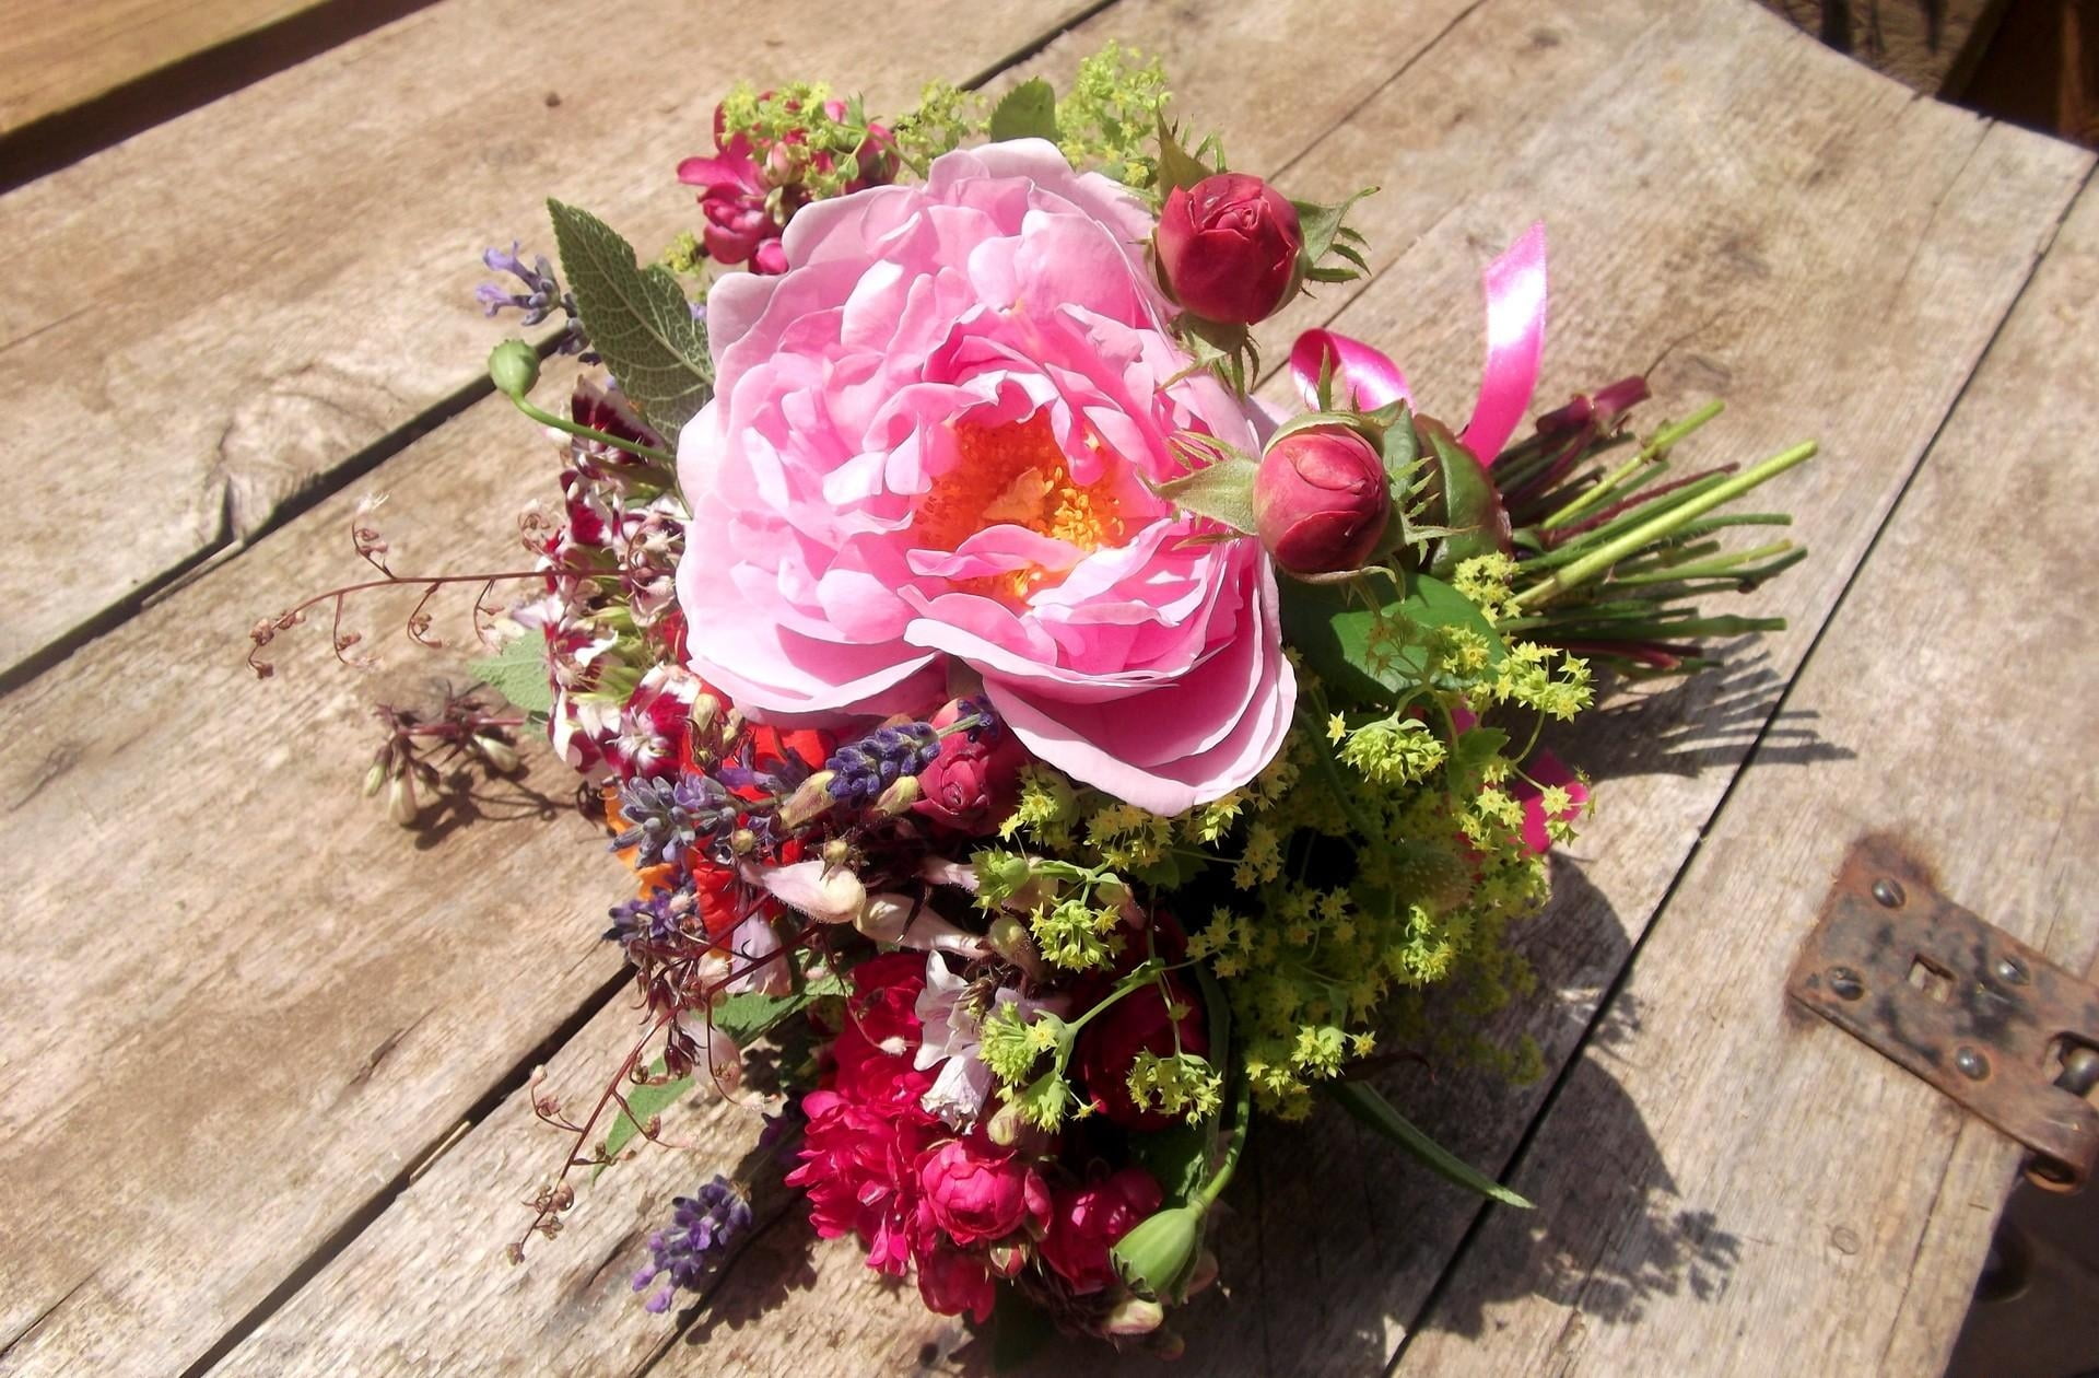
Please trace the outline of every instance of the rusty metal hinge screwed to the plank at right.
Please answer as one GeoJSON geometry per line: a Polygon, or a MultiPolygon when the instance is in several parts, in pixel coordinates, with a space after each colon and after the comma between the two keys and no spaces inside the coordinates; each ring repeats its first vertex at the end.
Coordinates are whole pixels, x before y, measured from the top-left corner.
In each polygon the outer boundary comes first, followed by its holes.
{"type": "Polygon", "coordinates": [[[2034,1185],[2099,1166],[2099,987],[1939,895],[1897,840],[1851,844],[1786,991],[2023,1143],[2034,1185]]]}

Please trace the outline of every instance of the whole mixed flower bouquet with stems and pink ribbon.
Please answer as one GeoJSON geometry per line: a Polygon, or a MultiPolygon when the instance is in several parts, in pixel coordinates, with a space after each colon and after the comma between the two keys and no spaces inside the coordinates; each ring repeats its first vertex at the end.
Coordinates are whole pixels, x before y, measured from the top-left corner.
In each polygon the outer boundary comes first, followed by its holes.
{"type": "MultiPolygon", "coordinates": [[[[558,271],[487,254],[491,315],[563,317],[491,357],[563,456],[527,567],[399,576],[359,515],[378,578],[256,624],[262,672],[315,609],[353,660],[351,592],[420,588],[432,641],[428,601],[483,586],[510,708],[382,710],[367,790],[411,823],[544,729],[628,868],[636,1038],[588,1113],[535,1082],[569,1153],[525,1239],[688,1094],[764,1113],[817,1233],[932,1311],[1159,1353],[1264,1118],[1331,1103],[1522,1204],[1371,1073],[1530,1071],[1484,1015],[1528,989],[1511,926],[1587,807],[1539,731],[1593,664],[1776,626],[1698,599],[1801,559],[1721,534],[1784,523],[1730,504],[1814,445],[1679,473],[1719,408],[1639,439],[1641,378],[1524,429],[1543,227],[1486,265],[1463,426],[1327,330],[1289,349],[1299,408],[1255,401],[1255,326],[1366,271],[1356,197],[1291,202],[1163,107],[1115,48],[989,111],[733,92],[659,260],[558,202],[558,271]],[[546,351],[605,376],[546,410],[546,351]]],[[[676,1202],[649,1309],[707,1283],[749,1189],[676,1202]]]]}

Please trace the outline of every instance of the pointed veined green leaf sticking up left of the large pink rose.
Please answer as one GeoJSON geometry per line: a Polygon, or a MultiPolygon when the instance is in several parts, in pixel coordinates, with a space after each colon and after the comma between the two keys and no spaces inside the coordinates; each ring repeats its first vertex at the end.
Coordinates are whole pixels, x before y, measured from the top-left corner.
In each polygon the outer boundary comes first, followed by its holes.
{"type": "Polygon", "coordinates": [[[714,397],[707,328],[693,319],[670,269],[636,265],[634,248],[605,221],[552,200],[546,208],[590,347],[657,435],[674,439],[714,397]]]}

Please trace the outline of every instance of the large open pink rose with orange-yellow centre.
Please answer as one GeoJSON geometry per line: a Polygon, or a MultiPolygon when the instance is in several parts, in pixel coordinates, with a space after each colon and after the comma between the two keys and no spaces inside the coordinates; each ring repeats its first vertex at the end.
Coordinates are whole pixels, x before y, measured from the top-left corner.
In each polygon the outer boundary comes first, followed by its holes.
{"type": "Polygon", "coordinates": [[[915,712],[949,660],[1043,760],[1157,813],[1247,784],[1297,687],[1251,540],[1146,487],[1249,410],[1165,332],[1150,216],[1043,141],[796,212],[707,298],[678,441],[693,666],[770,716],[915,712]],[[1171,382],[1169,380],[1175,380],[1171,382]]]}

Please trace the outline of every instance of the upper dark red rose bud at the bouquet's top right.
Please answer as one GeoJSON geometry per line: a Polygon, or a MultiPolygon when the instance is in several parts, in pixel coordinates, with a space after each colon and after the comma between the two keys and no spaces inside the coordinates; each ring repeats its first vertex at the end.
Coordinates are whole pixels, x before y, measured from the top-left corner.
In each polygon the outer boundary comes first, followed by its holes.
{"type": "Polygon", "coordinates": [[[1182,307],[1209,321],[1268,319],[1297,286],[1297,210],[1259,176],[1217,172],[1175,187],[1159,214],[1159,267],[1182,307]]]}

